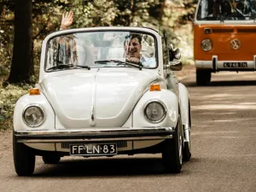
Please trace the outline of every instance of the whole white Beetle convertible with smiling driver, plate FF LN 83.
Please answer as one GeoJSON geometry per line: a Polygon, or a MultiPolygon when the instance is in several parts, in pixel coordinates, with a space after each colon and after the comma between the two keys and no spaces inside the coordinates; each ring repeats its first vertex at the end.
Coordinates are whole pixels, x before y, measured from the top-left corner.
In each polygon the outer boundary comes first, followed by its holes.
{"type": "Polygon", "coordinates": [[[13,149],[19,176],[35,156],[162,154],[166,172],[189,160],[189,91],[174,71],[179,49],[142,27],[53,32],[44,39],[38,84],[15,105],[13,149]]]}

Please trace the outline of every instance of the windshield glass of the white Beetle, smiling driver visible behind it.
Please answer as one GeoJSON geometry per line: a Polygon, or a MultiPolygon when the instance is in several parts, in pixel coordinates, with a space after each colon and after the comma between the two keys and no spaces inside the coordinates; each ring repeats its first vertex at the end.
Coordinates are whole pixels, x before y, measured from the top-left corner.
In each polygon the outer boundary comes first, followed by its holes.
{"type": "Polygon", "coordinates": [[[143,32],[77,32],[48,42],[48,72],[93,67],[157,67],[153,35],[143,32]]]}

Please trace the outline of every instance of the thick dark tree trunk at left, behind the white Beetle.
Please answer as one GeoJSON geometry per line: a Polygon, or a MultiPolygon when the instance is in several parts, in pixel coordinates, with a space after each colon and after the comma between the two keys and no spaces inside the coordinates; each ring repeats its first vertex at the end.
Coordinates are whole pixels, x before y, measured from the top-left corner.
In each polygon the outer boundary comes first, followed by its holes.
{"type": "Polygon", "coordinates": [[[15,0],[15,39],[9,83],[30,82],[32,70],[32,0],[15,0]]]}

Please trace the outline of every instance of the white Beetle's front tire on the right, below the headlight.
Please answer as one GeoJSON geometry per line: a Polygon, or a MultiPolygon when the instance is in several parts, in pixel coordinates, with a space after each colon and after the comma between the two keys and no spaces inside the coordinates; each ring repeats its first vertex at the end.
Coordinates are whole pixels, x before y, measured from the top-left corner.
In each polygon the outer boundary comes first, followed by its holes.
{"type": "Polygon", "coordinates": [[[174,137],[166,139],[164,142],[162,159],[166,172],[181,172],[183,164],[183,131],[180,120],[174,137]]]}

